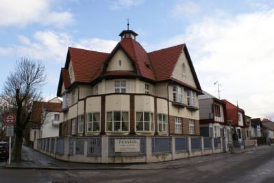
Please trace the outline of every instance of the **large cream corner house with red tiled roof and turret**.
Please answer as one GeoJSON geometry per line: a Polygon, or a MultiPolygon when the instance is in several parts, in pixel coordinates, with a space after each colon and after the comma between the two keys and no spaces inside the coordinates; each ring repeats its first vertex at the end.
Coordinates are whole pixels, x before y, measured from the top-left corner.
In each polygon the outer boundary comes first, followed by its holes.
{"type": "Polygon", "coordinates": [[[69,48],[61,136],[200,135],[202,94],[185,44],[147,53],[125,30],[111,53],[69,48]]]}

